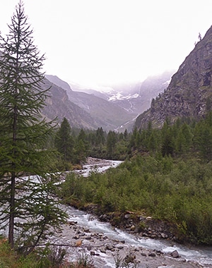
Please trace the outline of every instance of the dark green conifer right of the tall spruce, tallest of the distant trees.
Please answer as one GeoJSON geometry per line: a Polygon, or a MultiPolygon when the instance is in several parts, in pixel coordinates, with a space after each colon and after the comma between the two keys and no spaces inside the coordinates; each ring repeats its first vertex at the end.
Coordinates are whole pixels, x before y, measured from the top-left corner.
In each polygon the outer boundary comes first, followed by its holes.
{"type": "Polygon", "coordinates": [[[57,131],[55,146],[66,162],[73,159],[73,137],[71,135],[71,126],[66,118],[63,119],[57,131]]]}

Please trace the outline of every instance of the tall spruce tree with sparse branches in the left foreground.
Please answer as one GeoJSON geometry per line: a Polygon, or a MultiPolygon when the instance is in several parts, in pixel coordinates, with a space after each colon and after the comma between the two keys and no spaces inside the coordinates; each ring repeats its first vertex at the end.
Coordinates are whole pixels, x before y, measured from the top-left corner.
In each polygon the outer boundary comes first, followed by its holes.
{"type": "Polygon", "coordinates": [[[57,178],[48,172],[54,126],[41,117],[45,57],[33,44],[22,1],[8,28],[0,35],[0,225],[11,248],[17,241],[28,253],[59,229],[65,214],[55,198],[57,178]]]}

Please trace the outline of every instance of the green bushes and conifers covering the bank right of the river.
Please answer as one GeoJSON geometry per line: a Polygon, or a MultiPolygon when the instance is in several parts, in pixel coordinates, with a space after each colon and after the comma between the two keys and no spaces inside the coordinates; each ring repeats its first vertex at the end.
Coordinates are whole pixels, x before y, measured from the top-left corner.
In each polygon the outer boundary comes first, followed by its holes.
{"type": "Polygon", "coordinates": [[[65,202],[98,204],[102,213],[143,212],[176,224],[184,240],[211,245],[212,114],[199,122],[167,120],[160,130],[149,124],[124,142],[126,160],[117,169],[67,176],[65,202]]]}

